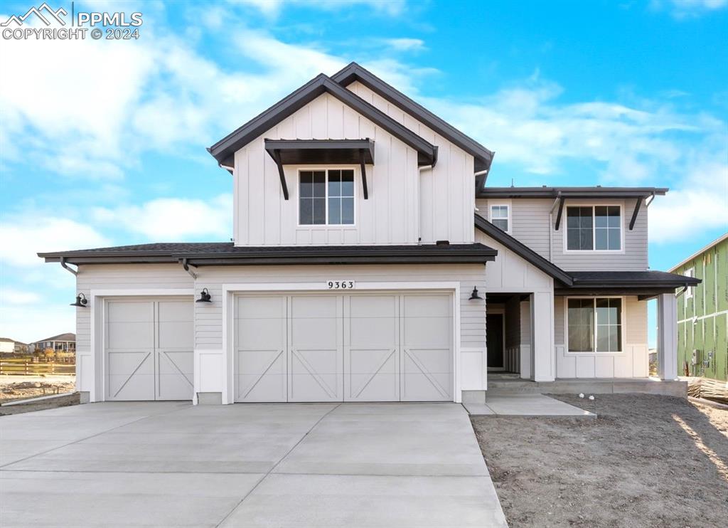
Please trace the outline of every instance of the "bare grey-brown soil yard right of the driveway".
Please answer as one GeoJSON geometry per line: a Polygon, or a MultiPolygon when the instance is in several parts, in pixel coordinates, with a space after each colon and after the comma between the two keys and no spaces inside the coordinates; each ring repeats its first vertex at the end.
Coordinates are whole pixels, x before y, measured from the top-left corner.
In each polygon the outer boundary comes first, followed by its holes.
{"type": "Polygon", "coordinates": [[[511,527],[724,527],[728,411],[659,395],[555,395],[596,419],[473,417],[511,527]]]}

